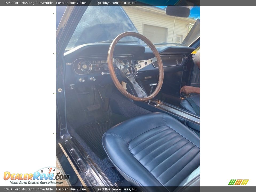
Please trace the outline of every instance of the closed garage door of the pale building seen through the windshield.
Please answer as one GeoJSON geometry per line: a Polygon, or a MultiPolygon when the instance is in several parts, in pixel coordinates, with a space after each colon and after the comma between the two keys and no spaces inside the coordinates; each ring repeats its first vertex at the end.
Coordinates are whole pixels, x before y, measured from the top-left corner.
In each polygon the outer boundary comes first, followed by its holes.
{"type": "Polygon", "coordinates": [[[143,35],[152,43],[162,43],[167,41],[167,28],[153,25],[143,25],[143,35]]]}

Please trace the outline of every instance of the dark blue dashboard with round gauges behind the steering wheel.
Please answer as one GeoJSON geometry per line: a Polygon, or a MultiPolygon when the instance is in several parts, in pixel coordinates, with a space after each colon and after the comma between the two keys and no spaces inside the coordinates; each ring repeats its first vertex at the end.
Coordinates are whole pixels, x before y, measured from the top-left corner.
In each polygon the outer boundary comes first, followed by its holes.
{"type": "MultiPolygon", "coordinates": [[[[110,44],[87,44],[75,47],[64,53],[66,62],[66,84],[70,85],[87,82],[87,85],[106,85],[112,83],[107,64],[107,53],[110,44]]],[[[194,51],[193,47],[163,46],[157,47],[161,56],[164,72],[176,73],[183,70],[186,58],[194,51]]],[[[149,47],[143,45],[117,44],[113,57],[123,66],[137,64],[154,56],[149,47]]],[[[117,78],[124,81],[117,66],[114,65],[117,78]]],[[[158,63],[154,62],[139,70],[136,78],[157,78],[158,63]]]]}

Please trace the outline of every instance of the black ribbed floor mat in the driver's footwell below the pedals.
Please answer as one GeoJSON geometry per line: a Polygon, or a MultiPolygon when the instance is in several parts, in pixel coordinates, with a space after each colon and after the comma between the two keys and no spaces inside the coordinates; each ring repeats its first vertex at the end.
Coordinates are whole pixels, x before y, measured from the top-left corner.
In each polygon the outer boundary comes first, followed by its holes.
{"type": "Polygon", "coordinates": [[[100,159],[104,159],[107,154],[102,146],[102,135],[114,125],[125,120],[126,118],[121,115],[106,114],[79,126],[75,131],[100,159]]]}

